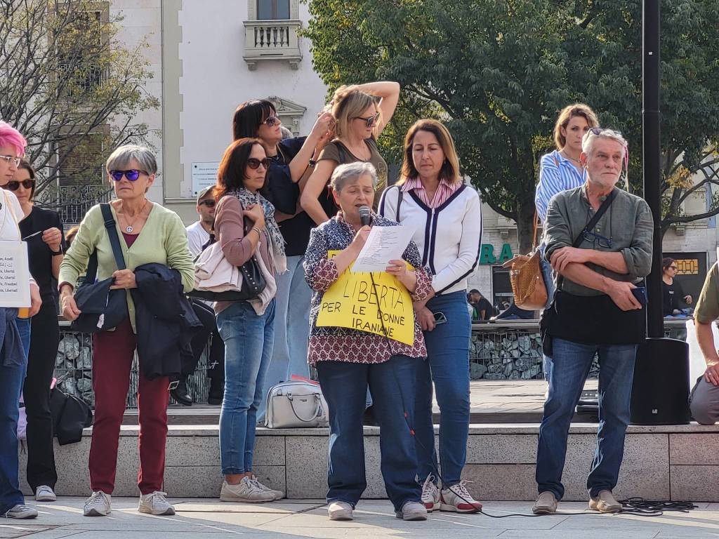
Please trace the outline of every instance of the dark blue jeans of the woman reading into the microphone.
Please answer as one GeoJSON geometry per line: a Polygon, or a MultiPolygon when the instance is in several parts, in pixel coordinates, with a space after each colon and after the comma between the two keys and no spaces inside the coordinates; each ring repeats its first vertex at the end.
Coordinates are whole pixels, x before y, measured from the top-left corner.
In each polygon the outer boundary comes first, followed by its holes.
{"type": "Polygon", "coordinates": [[[354,507],[365,492],[365,439],[362,415],[367,386],[372,390],[380,425],[380,453],[385,489],[395,506],[419,502],[417,458],[411,435],[414,418],[415,370],[421,359],[392,356],[384,363],[319,361],[317,374],[329,407],[327,502],[354,507]],[[405,415],[406,414],[406,415],[405,415]]]}

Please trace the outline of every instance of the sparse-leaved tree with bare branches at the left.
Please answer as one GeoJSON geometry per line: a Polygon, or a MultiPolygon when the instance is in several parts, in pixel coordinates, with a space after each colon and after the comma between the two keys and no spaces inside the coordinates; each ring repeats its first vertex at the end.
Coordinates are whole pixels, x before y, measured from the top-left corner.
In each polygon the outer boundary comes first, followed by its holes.
{"type": "Polygon", "coordinates": [[[147,142],[137,115],[159,106],[144,88],[147,44],[127,49],[121,28],[102,2],[0,0],[0,118],[27,138],[50,206],[93,203],[109,151],[147,142]]]}

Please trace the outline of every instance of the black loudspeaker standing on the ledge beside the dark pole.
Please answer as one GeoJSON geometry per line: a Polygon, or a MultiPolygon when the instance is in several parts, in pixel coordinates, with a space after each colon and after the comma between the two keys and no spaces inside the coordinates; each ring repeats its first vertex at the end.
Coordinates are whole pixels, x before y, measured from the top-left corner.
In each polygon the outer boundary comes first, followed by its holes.
{"type": "Polygon", "coordinates": [[[639,345],[631,394],[631,423],[689,423],[689,390],[687,343],[676,338],[647,338],[639,345]]]}

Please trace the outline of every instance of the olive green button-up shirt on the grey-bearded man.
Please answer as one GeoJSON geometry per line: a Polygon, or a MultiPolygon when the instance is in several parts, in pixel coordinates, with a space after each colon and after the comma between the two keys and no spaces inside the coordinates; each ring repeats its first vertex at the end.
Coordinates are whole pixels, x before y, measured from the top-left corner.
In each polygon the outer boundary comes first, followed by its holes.
{"type": "MultiPolygon", "coordinates": [[[[643,198],[631,195],[625,190],[614,188],[614,200],[597,221],[592,230],[611,239],[611,247],[605,240],[588,241],[583,239],[579,249],[595,249],[604,252],[620,252],[626,262],[628,272],[618,274],[605,267],[587,263],[595,272],[615,281],[637,283],[651,272],[651,239],[654,221],[651,218],[649,205],[643,198]]],[[[546,211],[546,228],[544,256],[551,259],[551,254],[562,247],[572,247],[585,226],[594,216],[595,211],[586,195],[586,184],[581,187],[557,193],[549,201],[546,211]]],[[[577,282],[555,276],[557,288],[574,295],[601,295],[603,292],[580,285],[577,282]]]]}

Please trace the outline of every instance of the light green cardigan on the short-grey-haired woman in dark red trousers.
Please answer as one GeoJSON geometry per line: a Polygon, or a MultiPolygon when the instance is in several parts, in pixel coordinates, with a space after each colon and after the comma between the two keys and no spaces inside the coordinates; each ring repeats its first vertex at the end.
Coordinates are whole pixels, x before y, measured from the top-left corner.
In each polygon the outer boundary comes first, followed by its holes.
{"type": "MultiPolygon", "coordinates": [[[[160,204],[153,203],[145,226],[142,226],[137,239],[129,249],[117,224],[117,214],[114,208],[112,208],[112,215],[115,218],[115,229],[128,270],[134,270],[136,267],[150,264],[150,262],[165,264],[180,272],[185,292],[193,289],[195,264],[193,264],[192,255],[188,249],[185,226],[177,213],[163,208],[160,204]]],[[[97,280],[101,281],[116,272],[117,264],[112,254],[110,238],[105,229],[105,220],[102,217],[99,204],[90,208],[86,213],[77,236],[73,239],[68,252],[65,253],[58,277],[60,286],[63,283],[75,285],[78,277],[86,271],[90,255],[95,250],[97,250],[97,280]]],[[[132,329],[137,333],[134,303],[129,290],[127,290],[127,311],[132,329]]]]}

